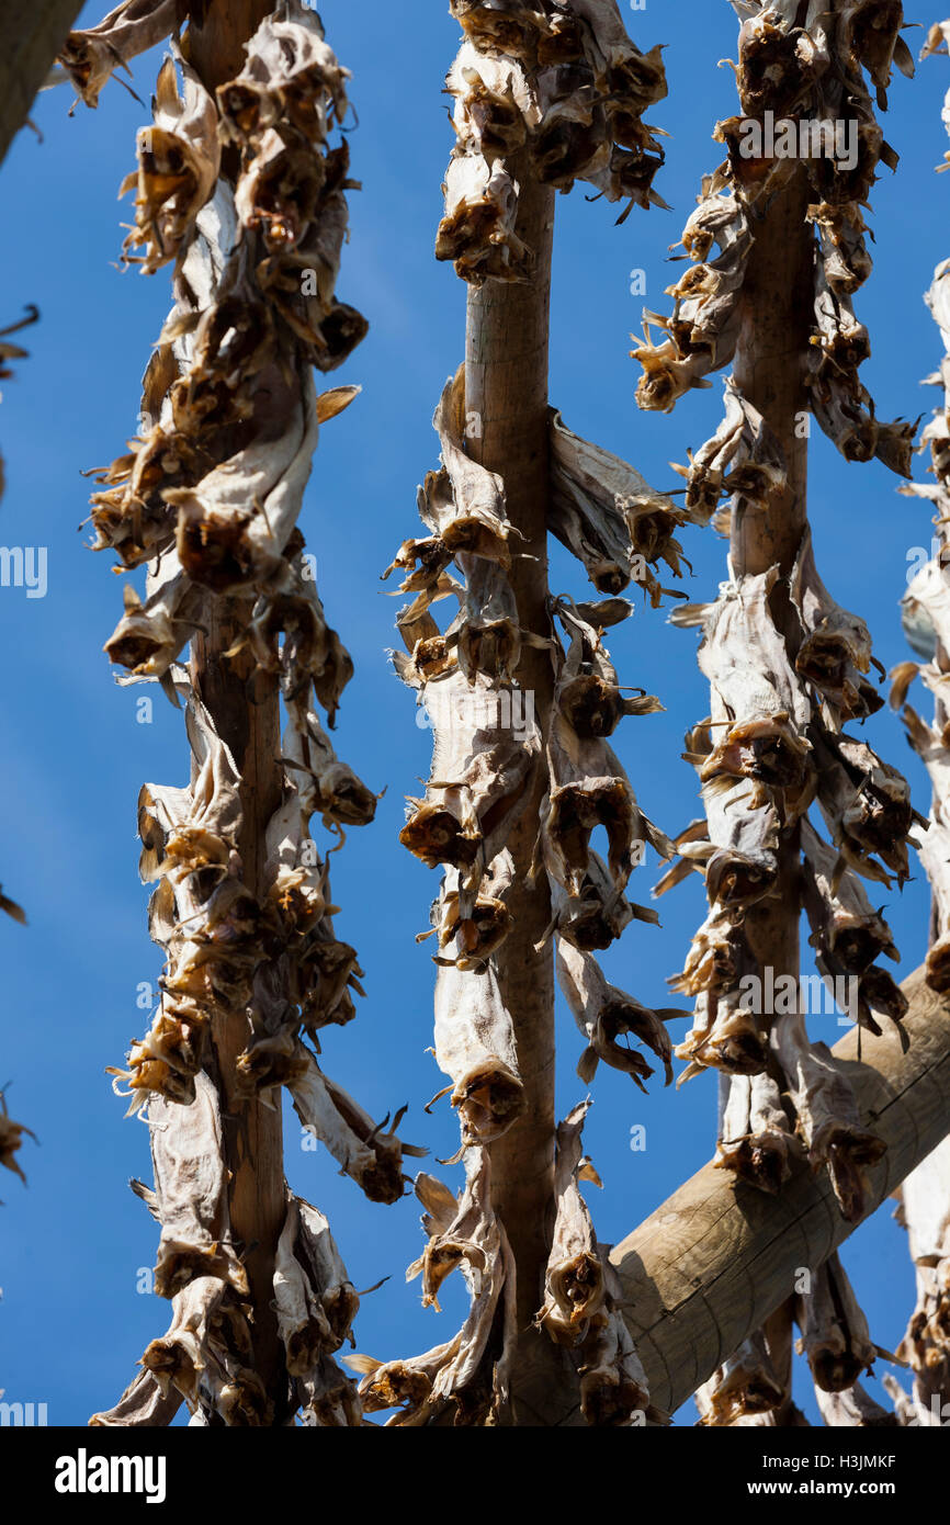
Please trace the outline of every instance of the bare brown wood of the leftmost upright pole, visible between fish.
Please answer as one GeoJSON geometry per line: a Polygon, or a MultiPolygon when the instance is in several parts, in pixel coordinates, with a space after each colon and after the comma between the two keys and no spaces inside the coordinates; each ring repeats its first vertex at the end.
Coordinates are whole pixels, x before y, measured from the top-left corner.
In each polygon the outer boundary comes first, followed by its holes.
{"type": "MultiPolygon", "coordinates": [[[[212,0],[203,23],[191,23],[189,56],[209,92],[241,72],[244,44],[270,11],[271,0],[212,0]]],[[[252,702],[249,685],[255,660],[250,653],[224,657],[239,634],[227,601],[215,599],[206,633],[198,633],[192,644],[191,679],[241,773],[241,860],[246,884],[258,897],[265,889],[265,828],[281,804],[281,715],[274,680],[258,682],[252,702]]],[[[221,1110],[224,1157],[230,1170],[230,1225],[235,1240],[247,1249],[244,1266],[255,1307],[256,1371],[273,1392],[273,1379],[284,1365],[271,1307],[274,1255],[287,1211],[282,1116],[279,1107],[264,1106],[259,1096],[233,1095],[236,1058],[249,1040],[246,1013],[215,1017],[212,1040],[224,1084],[221,1110]]]]}

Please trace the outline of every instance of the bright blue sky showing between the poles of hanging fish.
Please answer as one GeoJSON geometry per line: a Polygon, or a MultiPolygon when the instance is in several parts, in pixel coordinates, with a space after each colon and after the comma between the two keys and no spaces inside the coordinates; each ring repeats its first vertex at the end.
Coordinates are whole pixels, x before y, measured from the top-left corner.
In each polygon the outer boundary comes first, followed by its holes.
{"type": "MultiPolygon", "coordinates": [[[[400,541],[416,534],[415,488],[436,461],[432,413],[464,351],[464,285],[432,256],[451,143],[441,90],[457,27],[442,5],[427,6],[424,24],[415,26],[406,8],[383,0],[325,0],[320,11],[331,44],[354,72],[358,130],[351,149],[354,177],[363,181],[351,197],[352,239],[339,294],[366,313],[371,332],[335,378],[360,383],[363,395],[322,435],[302,528],[317,555],[328,618],[357,666],[337,747],[371,787],[387,790],[375,824],[351,833],[334,859],[339,932],[360,949],[367,999],[355,1023],[328,1032],[325,1066],[375,1115],[409,1103],[404,1136],[445,1157],[456,1122],[447,1109],[422,1112],[441,1081],[425,1052],[430,949],[415,944],[438,880],[396,842],[403,796],[427,772],[430,738],[413,723],[413,697],[386,660],[398,605],[383,595],[380,573],[400,541]]],[[[412,11],[413,20],[424,14],[419,5],[412,11]]],[[[87,6],[82,21],[99,15],[87,6]]],[[[602,201],[589,204],[583,186],[558,198],[550,396],[572,429],[663,490],[679,480],[668,464],[685,461],[686,448],[717,427],[720,380],[671,416],[640,415],[628,336],[639,331],[643,305],[665,308],[663,287],[677,270],[665,264],[668,247],[701,174],[718,163],[711,133],[717,117],[733,113],[735,88],[730,69],[717,64],[735,55],[737,23],[726,0],[650,0],[630,20],[640,47],[669,44],[669,98],[651,120],[671,133],[657,188],[672,212],[634,210],[616,227],[615,212],[602,201]],[[633,268],[647,271],[645,302],[630,294],[633,268]]],[[[915,53],[921,38],[909,34],[915,53]]],[[[159,63],[160,52],[134,64],[143,99],[159,63]]],[[[874,194],[875,271],[857,297],[874,345],[863,375],[886,418],[916,416],[936,398],[920,386],[939,352],[921,294],[950,253],[950,186],[933,174],[945,149],[945,61],[930,59],[916,81],[898,76],[891,92],[886,136],[901,163],[895,177],[883,171],[874,194]]],[[[119,688],[110,676],[101,648],[119,618],[120,583],[105,555],[88,552],[88,532],[78,531],[88,496],[79,473],[111,461],[136,432],[139,380],[169,305],[168,273],[148,279],[116,267],[120,223],[130,220],[116,192],[134,163],[145,113],[114,82],[98,111],[78,107],[70,117],[70,99],[69,90],[43,95],[34,113],[43,139],[26,130],[8,156],[8,236],[0,247],[0,325],[27,302],[43,319],[23,339],[29,360],[3,386],[0,541],[46,546],[49,557],[46,598],[0,590],[0,878],[29,915],[27,929],[0,920],[0,1083],[11,1081],[12,1115],[38,1135],[38,1145],[26,1141],[21,1151],[29,1190],[6,1173],[0,1182],[0,1386],[9,1400],[47,1401],[52,1424],[81,1424],[108,1406],[169,1321],[168,1304],[137,1292],[140,1267],[154,1260],[156,1226],[127,1180],[148,1177],[146,1128],[124,1121],[104,1069],[142,1034],[148,1013],[136,1005],[137,987],[160,971],[136,871],[137,791],[143,781],[188,778],[180,715],[154,688],[119,688]],[[136,720],[143,692],[156,697],[151,724],[136,720]]],[[[907,654],[897,612],[907,558],[930,540],[926,505],[895,488],[881,465],[846,465],[816,430],[810,499],[817,563],[839,602],[869,622],[887,668],[907,654]]],[[[712,531],[689,531],[685,549],[694,563],[694,578],[683,584],[689,596],[714,596],[723,541],[712,531]]],[[[586,589],[560,546],[552,587],[575,596],[586,589]]],[[[666,705],[662,715],[627,720],[615,741],[640,804],[674,833],[697,814],[695,775],[679,755],[683,730],[708,712],[708,697],[695,636],[665,619],[662,610],[639,607],[611,633],[610,650],[621,682],[666,705]]],[[[926,810],[929,787],[898,720],[883,711],[868,734],[906,769],[926,810]]],[[[656,860],[637,872],[636,898],[647,900],[656,860]]],[[[605,956],[610,978],[665,1005],[665,979],[682,968],[703,904],[698,877],[665,898],[662,929],[634,924],[605,956]]],[[[927,906],[918,874],[887,907],[904,973],[924,955],[927,906]]],[[[813,1035],[837,1042],[836,1019],[817,1019],[813,1035]]],[[[558,1039],[564,1115],[583,1093],[573,1072],[581,1045],[566,1011],[558,1039]]],[[[711,1156],[715,1083],[701,1077],[677,1093],[654,1080],[642,1096],[627,1077],[601,1068],[593,1095],[586,1142],[605,1188],[593,1209],[599,1235],[616,1241],[711,1156]],[[634,1124],[647,1128],[642,1153],[630,1150],[634,1124]]],[[[418,1284],[403,1283],[419,1249],[415,1199],[393,1208],[366,1203],[326,1154],[300,1148],[293,1115],[287,1168],[294,1190],[329,1214],[357,1287],[392,1278],[363,1302],[358,1348],[393,1357],[448,1337],[459,1292],[436,1315],[422,1312],[418,1284]]],[[[447,1173],[454,1176],[457,1170],[447,1173]]],[[[872,1337],[894,1348],[913,1304],[913,1276],[887,1209],[854,1235],[845,1263],[872,1337]]],[[[796,1395],[816,1420],[804,1369],[796,1395]]],[[[679,1423],[694,1417],[688,1405],[679,1423]]]]}

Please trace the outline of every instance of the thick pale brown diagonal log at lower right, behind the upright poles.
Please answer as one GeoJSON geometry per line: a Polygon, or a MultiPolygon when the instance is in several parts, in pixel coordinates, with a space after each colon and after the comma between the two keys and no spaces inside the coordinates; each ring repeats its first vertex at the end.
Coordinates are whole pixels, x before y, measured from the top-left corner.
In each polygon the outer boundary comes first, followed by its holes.
{"type": "MultiPolygon", "coordinates": [[[[894,1029],[852,1029],[836,1046],[865,1124],[887,1144],[869,1173],[868,1214],[950,1133],[950,999],[904,981],[907,1052],[894,1029]]],[[[712,1162],[613,1250],[624,1312],[650,1395],[672,1414],[791,1295],[801,1269],[820,1266],[854,1232],[828,1173],[802,1165],[778,1197],[712,1162]]]]}

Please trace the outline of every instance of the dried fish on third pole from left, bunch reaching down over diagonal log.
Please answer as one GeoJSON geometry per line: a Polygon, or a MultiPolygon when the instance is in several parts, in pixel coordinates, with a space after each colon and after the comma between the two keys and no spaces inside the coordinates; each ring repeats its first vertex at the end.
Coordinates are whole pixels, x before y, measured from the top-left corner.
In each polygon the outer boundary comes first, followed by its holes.
{"type": "MultiPolygon", "coordinates": [[[[787,990],[776,981],[769,999],[746,923],[750,907],[778,894],[779,848],[801,843],[804,909],[823,981],[863,1028],[880,1032],[874,1013],[900,1022],[906,997],[875,962],[880,955],[897,958],[897,949],[860,875],[891,884],[894,872],[904,881],[915,817],[900,775],[866,743],[828,729],[836,720],[831,685],[817,663],[802,660],[810,627],[831,644],[845,622],[866,634],[863,622],[843,612],[837,625],[817,619],[820,584],[805,537],[791,578],[802,634],[793,660],[773,616],[778,581],[775,567],[740,576],[723,584],[715,604],[672,615],[674,624],[703,631],[700,668],[712,700],[711,715],[686,738],[706,820],[680,834],[680,862],[657,884],[663,894],[698,868],[711,906],[683,971],[671,981],[697,1000],[694,1028],[676,1052],[688,1061],[686,1080],[706,1068],[729,1078],[724,1168],[761,1190],[781,1188],[799,1147],[781,1103],[785,1089],[811,1165],[828,1167],[842,1212],[854,1220],[862,1214],[862,1171],[880,1157],[880,1145],[860,1128],[825,1046],[808,1042],[798,979],[788,976],[787,990]],[[808,820],[816,799],[834,846],[808,820]]],[[[840,665],[855,654],[857,644],[842,640],[840,665]]]]}

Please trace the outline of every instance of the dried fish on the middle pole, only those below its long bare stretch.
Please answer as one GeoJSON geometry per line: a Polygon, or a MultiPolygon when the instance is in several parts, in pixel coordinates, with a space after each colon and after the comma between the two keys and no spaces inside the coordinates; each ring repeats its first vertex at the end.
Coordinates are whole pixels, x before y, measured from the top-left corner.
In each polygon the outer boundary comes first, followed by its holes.
{"type": "MultiPolygon", "coordinates": [[[[456,1340],[409,1362],[380,1365],[360,1357],[364,1405],[396,1405],[400,1414],[392,1423],[398,1424],[430,1423],[451,1405],[456,1423],[464,1424],[499,1423],[505,1412],[514,1260],[491,1205],[489,1161],[491,1145],[517,1121],[525,1103],[497,958],[512,926],[506,894],[514,866],[506,842],[532,795],[538,767],[547,776],[538,869],[543,865],[552,889],[549,935],[557,936],[558,978],[586,1040],[581,1078],[590,1080],[604,1061],[642,1086],[653,1071],[637,1049],[622,1042],[631,1034],[660,1058],[669,1081],[665,1019],[680,1014],[653,1011],[610,985],[592,956],[633,917],[656,921],[654,912],[627,900],[625,889],[647,843],[662,856],[672,851],[639,810],[607,743],[624,715],[660,708],[651,695],[622,692],[602,642],[604,628],[627,618],[631,605],[616,596],[593,604],[552,601],[564,644],[554,622],[547,637],[531,637],[550,650],[555,668],[555,709],[544,749],[534,695],[525,694],[515,679],[525,631],[506,573],[518,554],[518,535],[506,515],[503,482],[465,451],[464,384],[459,371],[435,418],[442,465],[419,491],[419,512],[430,535],[406,541],[386,575],[400,567],[406,573],[400,592],[415,595],[398,616],[407,651],[395,656],[395,665],[425,708],[435,755],[425,796],[410,801],[401,840],[430,868],[444,869],[432,912],[439,947],[435,1054],[451,1078],[447,1089],[459,1113],[468,1176],[457,1205],[447,1188],[421,1177],[416,1190],[428,1209],[432,1240],[419,1264],[427,1304],[435,1305],[436,1249],[441,1275],[462,1266],[473,1301],[456,1340]],[[450,575],[453,561],[464,583],[450,575]],[[432,615],[432,604],[442,598],[459,604],[445,633],[432,615]],[[590,848],[598,827],[607,833],[607,862],[590,848]],[[465,1244],[480,1247],[477,1263],[473,1252],[457,1249],[461,1222],[467,1225],[465,1244]]],[[[656,564],[663,560],[679,573],[680,547],[672,531],[682,514],[624,462],[578,439],[554,412],[550,430],[550,529],[578,555],[601,592],[622,590],[642,564],[648,596],[656,601],[662,592],[656,564]]],[[[575,1122],[579,1141],[579,1115],[575,1122]]],[[[560,1199],[569,1200],[575,1215],[586,1217],[576,1182],[570,1185],[573,1164],[564,1171],[569,1179],[560,1199]]],[[[575,1342],[583,1412],[589,1423],[630,1423],[631,1414],[647,1405],[642,1372],[604,1290],[605,1261],[599,1276],[604,1286],[596,1319],[575,1342]]],[[[547,1313],[540,1316],[540,1327],[554,1330],[547,1313]]]]}

